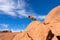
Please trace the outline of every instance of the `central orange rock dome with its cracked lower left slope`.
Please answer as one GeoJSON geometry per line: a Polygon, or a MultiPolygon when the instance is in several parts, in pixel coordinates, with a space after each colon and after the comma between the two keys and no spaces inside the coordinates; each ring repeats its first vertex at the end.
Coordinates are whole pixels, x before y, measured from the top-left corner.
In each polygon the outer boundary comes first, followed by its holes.
{"type": "Polygon", "coordinates": [[[33,21],[24,33],[16,35],[13,40],[44,40],[48,31],[49,29],[43,23],[33,21]]]}

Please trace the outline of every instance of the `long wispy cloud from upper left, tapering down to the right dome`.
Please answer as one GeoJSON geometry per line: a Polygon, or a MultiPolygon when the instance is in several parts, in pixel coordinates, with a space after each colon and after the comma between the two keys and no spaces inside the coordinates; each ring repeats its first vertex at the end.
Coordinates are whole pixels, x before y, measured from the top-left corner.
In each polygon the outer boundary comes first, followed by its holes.
{"type": "MultiPolygon", "coordinates": [[[[28,17],[29,15],[39,19],[44,19],[45,16],[37,15],[33,10],[26,11],[27,3],[25,0],[0,0],[0,10],[10,16],[16,16],[19,18],[28,17]]],[[[28,8],[28,7],[27,7],[28,8]]]]}

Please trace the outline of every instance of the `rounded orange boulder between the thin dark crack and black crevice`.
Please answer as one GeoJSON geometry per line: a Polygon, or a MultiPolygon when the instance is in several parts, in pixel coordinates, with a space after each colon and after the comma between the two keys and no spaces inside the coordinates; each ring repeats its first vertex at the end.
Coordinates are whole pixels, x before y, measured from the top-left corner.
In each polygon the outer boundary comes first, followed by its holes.
{"type": "Polygon", "coordinates": [[[32,22],[25,30],[25,32],[27,32],[33,38],[33,40],[46,39],[48,31],[49,29],[46,27],[46,25],[39,21],[32,22]]]}

